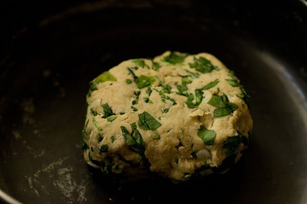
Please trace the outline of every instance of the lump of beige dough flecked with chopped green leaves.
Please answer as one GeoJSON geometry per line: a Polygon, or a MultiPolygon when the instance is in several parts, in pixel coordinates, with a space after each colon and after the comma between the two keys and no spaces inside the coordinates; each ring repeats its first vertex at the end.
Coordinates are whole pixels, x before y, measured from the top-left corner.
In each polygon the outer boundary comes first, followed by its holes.
{"type": "Polygon", "coordinates": [[[227,172],[249,143],[248,98],[233,71],[208,53],[124,61],[90,83],[84,159],[128,180],[227,172]]]}

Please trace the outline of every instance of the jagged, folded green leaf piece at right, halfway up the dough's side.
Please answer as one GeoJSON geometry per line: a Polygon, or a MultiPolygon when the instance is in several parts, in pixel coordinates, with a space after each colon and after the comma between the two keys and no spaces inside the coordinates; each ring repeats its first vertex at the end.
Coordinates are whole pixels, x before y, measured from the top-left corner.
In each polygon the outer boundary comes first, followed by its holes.
{"type": "Polygon", "coordinates": [[[231,103],[225,93],[221,96],[212,95],[208,104],[214,106],[213,117],[222,117],[231,114],[237,110],[238,106],[231,103]]]}

